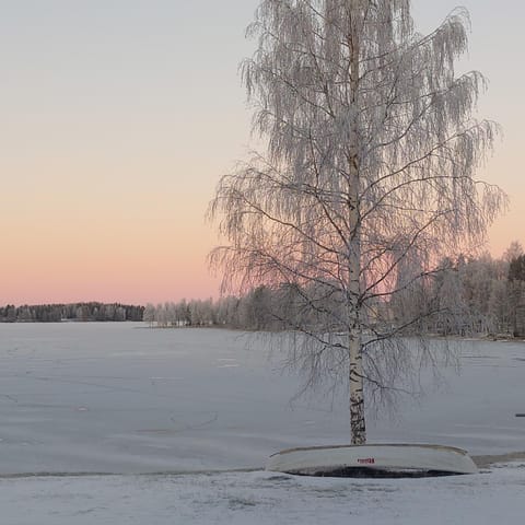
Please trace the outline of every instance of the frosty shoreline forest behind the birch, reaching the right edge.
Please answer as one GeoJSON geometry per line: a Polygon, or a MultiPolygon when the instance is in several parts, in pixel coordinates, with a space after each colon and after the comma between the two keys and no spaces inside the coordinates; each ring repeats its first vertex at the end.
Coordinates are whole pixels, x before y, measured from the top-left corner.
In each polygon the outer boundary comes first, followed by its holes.
{"type": "MultiPolygon", "coordinates": [[[[401,273],[398,279],[402,279],[401,273]]],[[[159,327],[224,326],[271,331],[300,326],[315,331],[332,323],[331,329],[341,331],[345,330],[346,303],[334,288],[329,283],[316,284],[316,290],[303,290],[290,283],[277,288],[260,285],[243,296],[219,301],[148,304],[143,320],[159,327]]],[[[418,285],[406,285],[389,300],[369,304],[365,315],[363,324],[376,332],[388,326],[398,327],[404,335],[525,337],[523,248],[513,243],[501,259],[490,254],[444,259],[439,269],[418,285]]]]}

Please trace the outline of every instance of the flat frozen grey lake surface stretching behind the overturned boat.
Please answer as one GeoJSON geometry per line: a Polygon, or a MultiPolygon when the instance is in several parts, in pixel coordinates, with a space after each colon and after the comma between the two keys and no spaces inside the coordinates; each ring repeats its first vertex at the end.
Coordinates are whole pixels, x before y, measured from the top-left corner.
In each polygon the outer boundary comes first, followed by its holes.
{"type": "MultiPolygon", "coordinates": [[[[370,441],[525,450],[525,345],[463,353],[459,376],[369,421],[370,441]]],[[[240,332],[3,324],[0,358],[0,474],[261,468],[278,450],[348,443],[345,398],[290,404],[298,378],[240,332]]]]}

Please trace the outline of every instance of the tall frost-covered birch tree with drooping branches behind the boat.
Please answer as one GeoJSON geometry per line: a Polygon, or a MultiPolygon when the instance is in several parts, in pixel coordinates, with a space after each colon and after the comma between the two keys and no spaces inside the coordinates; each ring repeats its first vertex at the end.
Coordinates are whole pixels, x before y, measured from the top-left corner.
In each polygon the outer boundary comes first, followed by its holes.
{"type": "Polygon", "coordinates": [[[392,392],[427,355],[397,336],[431,302],[395,325],[389,301],[481,245],[504,206],[475,178],[498,126],[474,116],[483,77],[455,72],[468,28],[457,9],[421,35],[409,0],[262,0],[247,30],[262,148],[219,183],[210,215],[228,243],[211,261],[223,290],[295,290],[305,315],[279,314],[291,363],[306,384],[346,381],[353,444],[366,439],[364,387],[392,392]]]}

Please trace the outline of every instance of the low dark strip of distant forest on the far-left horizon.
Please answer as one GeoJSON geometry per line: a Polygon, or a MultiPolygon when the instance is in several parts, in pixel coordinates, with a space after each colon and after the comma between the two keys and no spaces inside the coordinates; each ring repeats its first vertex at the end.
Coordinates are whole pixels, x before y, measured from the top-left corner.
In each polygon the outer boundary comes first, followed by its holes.
{"type": "Polygon", "coordinates": [[[0,307],[0,323],[60,323],[68,320],[142,320],[144,307],[129,304],[71,303],[0,307]]]}

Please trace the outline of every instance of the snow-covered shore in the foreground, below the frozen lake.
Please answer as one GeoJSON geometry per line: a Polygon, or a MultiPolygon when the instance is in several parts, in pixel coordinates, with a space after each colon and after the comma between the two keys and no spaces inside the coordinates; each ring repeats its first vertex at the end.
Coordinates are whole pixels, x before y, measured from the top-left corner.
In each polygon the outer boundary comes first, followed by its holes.
{"type": "Polygon", "coordinates": [[[525,465],[428,479],[269,472],[0,479],[5,525],[511,525],[525,465]]]}

